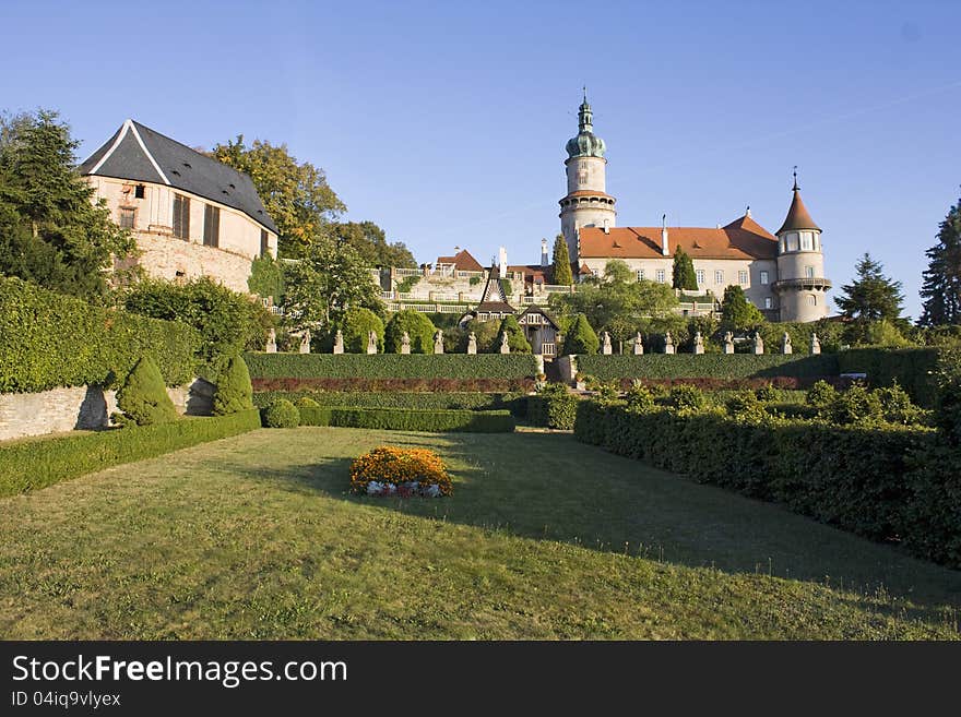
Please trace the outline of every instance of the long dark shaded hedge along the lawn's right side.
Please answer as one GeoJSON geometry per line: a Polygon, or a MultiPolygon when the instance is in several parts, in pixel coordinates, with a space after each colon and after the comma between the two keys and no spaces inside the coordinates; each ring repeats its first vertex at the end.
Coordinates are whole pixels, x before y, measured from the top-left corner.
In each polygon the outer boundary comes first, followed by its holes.
{"type": "Polygon", "coordinates": [[[961,564],[961,512],[930,499],[957,498],[961,476],[951,475],[948,466],[926,464],[925,480],[915,480],[918,456],[938,445],[934,431],[773,417],[751,423],[717,413],[633,413],[581,402],[574,434],[700,482],[782,502],[845,530],[961,564]]]}

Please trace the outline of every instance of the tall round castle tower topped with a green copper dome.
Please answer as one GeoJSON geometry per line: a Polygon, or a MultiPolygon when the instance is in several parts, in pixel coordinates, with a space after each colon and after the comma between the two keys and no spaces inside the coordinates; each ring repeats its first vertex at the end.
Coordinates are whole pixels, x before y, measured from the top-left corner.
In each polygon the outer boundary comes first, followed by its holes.
{"type": "Polygon", "coordinates": [[[586,88],[578,110],[578,135],[568,140],[565,148],[567,196],[560,200],[560,232],[567,240],[571,261],[577,262],[580,228],[609,229],[617,217],[616,200],[607,193],[607,145],[594,134],[594,112],[588,104],[586,88]]]}

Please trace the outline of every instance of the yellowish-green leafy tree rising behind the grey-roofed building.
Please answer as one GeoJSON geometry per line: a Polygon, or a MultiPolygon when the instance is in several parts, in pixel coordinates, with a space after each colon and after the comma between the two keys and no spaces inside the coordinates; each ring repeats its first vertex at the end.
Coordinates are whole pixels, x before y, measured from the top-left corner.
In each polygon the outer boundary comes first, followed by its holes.
{"type": "Polygon", "coordinates": [[[319,237],[330,236],[331,224],[347,207],[327,181],[323,169],[298,163],[286,144],[254,140],[216,145],[210,156],[250,176],[257,193],[277,225],[282,256],[304,256],[319,237]]]}

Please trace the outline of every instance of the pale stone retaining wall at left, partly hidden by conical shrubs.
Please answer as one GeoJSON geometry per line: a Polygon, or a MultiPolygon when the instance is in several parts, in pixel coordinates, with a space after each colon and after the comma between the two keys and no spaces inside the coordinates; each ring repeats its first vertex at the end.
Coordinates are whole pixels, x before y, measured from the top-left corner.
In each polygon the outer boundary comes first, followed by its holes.
{"type": "MultiPolygon", "coordinates": [[[[189,386],[167,389],[167,395],[180,414],[207,416],[213,387],[203,379],[195,379],[189,386]]],[[[110,414],[116,410],[116,392],[98,386],[0,394],[0,441],[106,428],[110,425],[110,414]]]]}

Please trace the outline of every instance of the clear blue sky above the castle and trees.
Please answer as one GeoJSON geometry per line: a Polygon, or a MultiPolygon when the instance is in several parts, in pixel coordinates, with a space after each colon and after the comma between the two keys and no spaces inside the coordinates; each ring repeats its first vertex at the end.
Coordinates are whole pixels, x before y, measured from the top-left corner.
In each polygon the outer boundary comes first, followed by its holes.
{"type": "MultiPolygon", "coordinates": [[[[828,275],[869,251],[920,312],[961,194],[961,2],[11,2],[0,108],[59,109],[85,157],[131,117],[327,170],[418,261],[535,262],[581,85],[618,225],[776,230],[798,165],[828,275]]],[[[832,295],[837,296],[834,290],[832,295]]]]}

